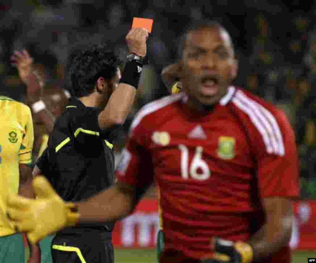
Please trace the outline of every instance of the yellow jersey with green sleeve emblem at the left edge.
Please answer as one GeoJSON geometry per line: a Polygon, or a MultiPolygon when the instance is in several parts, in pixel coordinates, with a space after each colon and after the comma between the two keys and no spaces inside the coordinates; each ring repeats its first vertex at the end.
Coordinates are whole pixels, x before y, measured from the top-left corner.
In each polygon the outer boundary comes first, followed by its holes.
{"type": "Polygon", "coordinates": [[[19,164],[32,161],[34,141],[31,110],[25,104],[0,96],[0,236],[13,234],[3,199],[18,193],[19,164]]]}

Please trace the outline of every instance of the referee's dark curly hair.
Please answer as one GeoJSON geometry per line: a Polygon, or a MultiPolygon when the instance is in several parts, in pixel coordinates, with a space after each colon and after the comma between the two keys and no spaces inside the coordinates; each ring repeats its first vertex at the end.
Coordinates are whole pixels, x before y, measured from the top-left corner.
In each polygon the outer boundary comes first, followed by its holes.
{"type": "Polygon", "coordinates": [[[104,44],[78,52],[69,69],[72,95],[78,98],[89,95],[94,91],[98,78],[112,79],[121,64],[114,50],[104,44]]]}

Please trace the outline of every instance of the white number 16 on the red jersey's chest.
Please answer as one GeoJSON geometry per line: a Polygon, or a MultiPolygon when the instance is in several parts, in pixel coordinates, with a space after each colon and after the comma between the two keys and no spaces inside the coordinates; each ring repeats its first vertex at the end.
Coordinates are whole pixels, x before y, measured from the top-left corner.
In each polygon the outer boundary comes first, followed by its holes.
{"type": "Polygon", "coordinates": [[[181,151],[181,176],[183,179],[191,178],[196,180],[207,180],[210,178],[211,172],[207,163],[202,160],[203,147],[197,146],[195,149],[195,154],[193,156],[190,168],[189,168],[189,150],[184,144],[179,144],[179,150],[181,151]],[[198,173],[198,169],[201,169],[201,173],[198,173]],[[190,171],[190,173],[189,173],[190,171]]]}

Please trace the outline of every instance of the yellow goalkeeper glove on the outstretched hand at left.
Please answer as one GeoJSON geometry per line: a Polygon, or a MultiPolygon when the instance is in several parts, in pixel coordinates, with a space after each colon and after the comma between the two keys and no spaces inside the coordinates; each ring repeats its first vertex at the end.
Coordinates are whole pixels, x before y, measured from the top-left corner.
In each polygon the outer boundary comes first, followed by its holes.
{"type": "Polygon", "coordinates": [[[64,202],[44,176],[33,180],[36,199],[19,195],[7,198],[8,217],[18,232],[27,232],[27,237],[35,244],[46,235],[76,224],[79,213],[72,203],[64,202]]]}

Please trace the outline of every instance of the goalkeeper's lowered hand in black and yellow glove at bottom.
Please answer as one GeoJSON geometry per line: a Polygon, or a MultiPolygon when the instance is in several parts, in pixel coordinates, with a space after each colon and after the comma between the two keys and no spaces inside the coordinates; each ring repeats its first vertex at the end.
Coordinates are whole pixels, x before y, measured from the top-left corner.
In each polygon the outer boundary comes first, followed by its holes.
{"type": "Polygon", "coordinates": [[[233,242],[214,238],[212,242],[214,254],[203,258],[203,263],[250,263],[253,259],[251,245],[246,242],[233,242]]]}

